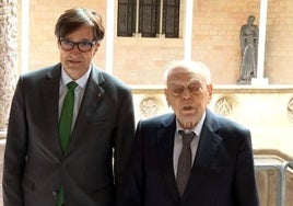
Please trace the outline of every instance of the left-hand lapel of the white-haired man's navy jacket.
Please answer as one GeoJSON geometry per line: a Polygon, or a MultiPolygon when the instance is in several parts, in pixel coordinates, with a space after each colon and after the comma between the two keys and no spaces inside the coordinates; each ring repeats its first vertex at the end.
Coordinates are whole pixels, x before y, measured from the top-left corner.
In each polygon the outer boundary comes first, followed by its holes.
{"type": "Polygon", "coordinates": [[[159,165],[162,169],[162,176],[166,182],[171,196],[177,201],[179,196],[173,168],[175,128],[175,115],[166,115],[162,121],[162,129],[157,130],[156,133],[156,153],[159,154],[159,165]]]}

